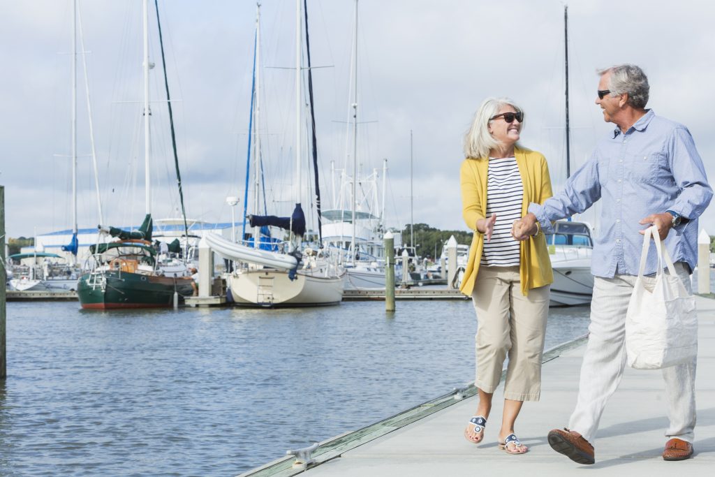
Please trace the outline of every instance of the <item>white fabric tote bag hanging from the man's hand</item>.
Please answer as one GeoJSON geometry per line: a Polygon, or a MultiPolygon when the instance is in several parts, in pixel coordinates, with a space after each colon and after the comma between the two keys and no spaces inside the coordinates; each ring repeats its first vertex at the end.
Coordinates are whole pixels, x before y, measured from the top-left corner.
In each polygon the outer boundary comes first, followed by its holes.
{"type": "Polygon", "coordinates": [[[695,297],[676,274],[658,229],[649,227],[643,240],[641,270],[626,313],[628,365],[636,369],[668,368],[693,359],[697,352],[695,297]],[[655,279],[643,275],[651,236],[658,252],[655,279]],[[669,273],[663,270],[664,261],[669,273]]]}

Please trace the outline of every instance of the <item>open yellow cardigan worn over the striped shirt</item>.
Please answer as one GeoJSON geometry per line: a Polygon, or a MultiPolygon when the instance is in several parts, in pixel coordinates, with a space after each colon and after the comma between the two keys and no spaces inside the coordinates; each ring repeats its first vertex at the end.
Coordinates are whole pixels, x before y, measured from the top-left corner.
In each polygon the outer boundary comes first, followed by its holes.
{"type": "MultiPolygon", "coordinates": [[[[521,174],[524,195],[521,203],[521,216],[527,213],[531,202],[543,204],[551,197],[551,177],[548,174],[546,158],[536,151],[516,148],[516,164],[521,174]]],[[[460,170],[462,184],[462,215],[467,226],[474,231],[472,246],[469,249],[469,261],[462,278],[461,292],[472,295],[474,282],[479,271],[479,262],[484,248],[484,235],[477,230],[477,220],[484,219],[487,207],[487,172],[489,159],[465,159],[460,170]]],[[[499,220],[497,218],[497,220],[499,220]]],[[[521,242],[519,247],[519,272],[521,292],[528,293],[531,288],[543,287],[553,282],[551,259],[548,257],[546,237],[539,232],[536,237],[521,242]]]]}

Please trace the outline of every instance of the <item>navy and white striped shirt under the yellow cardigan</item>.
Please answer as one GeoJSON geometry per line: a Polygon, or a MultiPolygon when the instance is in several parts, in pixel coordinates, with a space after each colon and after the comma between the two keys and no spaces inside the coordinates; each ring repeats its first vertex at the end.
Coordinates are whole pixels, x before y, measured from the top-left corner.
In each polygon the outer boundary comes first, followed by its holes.
{"type": "Polygon", "coordinates": [[[519,242],[511,236],[514,220],[521,219],[524,187],[516,157],[489,158],[486,217],[496,214],[491,240],[484,240],[480,265],[513,267],[519,265],[519,242]]]}

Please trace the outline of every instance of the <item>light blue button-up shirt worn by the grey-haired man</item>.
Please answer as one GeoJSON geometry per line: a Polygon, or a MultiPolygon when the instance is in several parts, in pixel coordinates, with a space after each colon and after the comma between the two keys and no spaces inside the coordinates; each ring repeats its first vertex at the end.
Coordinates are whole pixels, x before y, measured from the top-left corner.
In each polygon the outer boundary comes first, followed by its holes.
{"type": "MultiPolygon", "coordinates": [[[[559,220],[603,200],[593,242],[591,272],[597,277],[616,273],[638,275],[647,226],[638,222],[672,210],[689,219],[671,229],[665,240],[674,262],[697,261],[697,218],[713,195],[693,137],[682,124],[656,116],[652,109],[636,124],[598,142],[591,159],[566,182],[564,190],[543,205],[531,204],[544,232],[559,220]]],[[[650,248],[646,275],[656,272],[655,247],[650,248]]]]}

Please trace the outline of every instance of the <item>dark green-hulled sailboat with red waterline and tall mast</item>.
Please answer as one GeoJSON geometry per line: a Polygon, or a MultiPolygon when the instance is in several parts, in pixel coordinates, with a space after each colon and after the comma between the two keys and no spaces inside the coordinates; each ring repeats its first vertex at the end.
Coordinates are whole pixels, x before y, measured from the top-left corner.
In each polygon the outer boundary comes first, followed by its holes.
{"type": "MultiPolygon", "coordinates": [[[[87,260],[89,270],[80,278],[77,286],[77,295],[82,308],[110,309],[110,308],[162,308],[170,307],[177,303],[178,298],[192,295],[193,279],[184,262],[181,270],[172,267],[172,272],[162,270],[161,257],[152,243],[153,220],[151,212],[151,190],[149,177],[150,164],[150,135],[149,135],[149,8],[147,0],[143,3],[144,16],[144,159],[145,159],[145,190],[147,214],[139,230],[125,231],[115,227],[99,225],[102,235],[117,237],[118,240],[109,243],[97,243],[90,247],[92,255],[87,260]]],[[[159,42],[161,41],[161,24],[159,11],[157,11],[157,24],[159,24],[159,42]]],[[[162,59],[164,57],[162,44],[162,59]]],[[[164,65],[164,75],[166,68],[164,65]]],[[[166,83],[166,82],[165,82],[166,83]]],[[[168,85],[167,85],[168,96],[168,85]]],[[[171,102],[169,105],[169,118],[171,102]]],[[[172,126],[172,141],[174,140],[172,126]]],[[[174,142],[174,154],[175,154],[174,142]]],[[[181,177],[178,174],[179,196],[181,192],[181,177]]],[[[184,225],[186,224],[184,213],[184,225]]],[[[187,226],[185,225],[187,228],[187,226]]],[[[187,230],[188,236],[188,230],[187,230]]]]}

